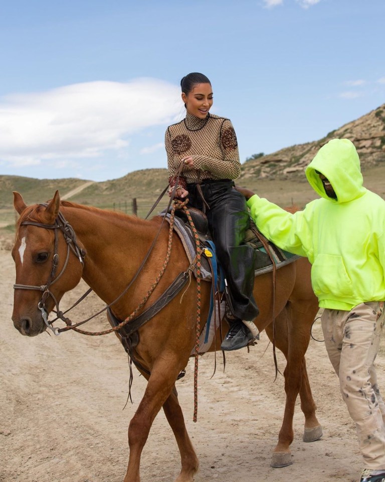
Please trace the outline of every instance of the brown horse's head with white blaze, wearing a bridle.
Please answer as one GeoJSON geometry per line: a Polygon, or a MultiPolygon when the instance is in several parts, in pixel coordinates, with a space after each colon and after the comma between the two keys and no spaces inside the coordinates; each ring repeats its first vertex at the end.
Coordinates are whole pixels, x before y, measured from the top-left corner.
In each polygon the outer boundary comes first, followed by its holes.
{"type": "Polygon", "coordinates": [[[33,206],[14,192],[14,207],[20,217],[12,250],[16,265],[12,319],[23,335],[35,336],[46,330],[48,313],[58,307],[64,293],[79,283],[81,250],[71,226],[60,217],[58,191],[50,202],[33,206]]]}

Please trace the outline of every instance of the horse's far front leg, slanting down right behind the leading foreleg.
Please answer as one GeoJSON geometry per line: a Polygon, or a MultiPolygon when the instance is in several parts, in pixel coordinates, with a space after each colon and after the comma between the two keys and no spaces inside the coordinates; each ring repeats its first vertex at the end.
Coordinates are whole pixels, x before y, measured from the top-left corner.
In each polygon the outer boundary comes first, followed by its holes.
{"type": "Polygon", "coordinates": [[[180,452],[181,470],[175,482],[191,482],[198,471],[199,462],[186,431],[175,386],[164,402],[163,410],[175,435],[180,452]]]}

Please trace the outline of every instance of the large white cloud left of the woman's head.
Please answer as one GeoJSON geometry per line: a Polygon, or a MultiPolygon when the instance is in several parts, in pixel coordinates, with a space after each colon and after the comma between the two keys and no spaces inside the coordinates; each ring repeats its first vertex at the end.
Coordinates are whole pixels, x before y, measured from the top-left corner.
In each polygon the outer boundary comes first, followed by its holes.
{"type": "Polygon", "coordinates": [[[26,166],[119,153],[134,133],[173,122],[179,96],[177,86],[153,78],[8,95],[0,99],[0,159],[26,166]]]}

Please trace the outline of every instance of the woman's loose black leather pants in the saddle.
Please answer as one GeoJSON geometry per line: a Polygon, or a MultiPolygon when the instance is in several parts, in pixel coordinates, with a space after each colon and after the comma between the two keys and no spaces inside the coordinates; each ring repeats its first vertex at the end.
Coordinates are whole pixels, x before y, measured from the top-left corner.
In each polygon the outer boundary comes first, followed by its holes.
{"type": "MultiPolygon", "coordinates": [[[[202,181],[209,229],[217,250],[229,289],[229,306],[233,314],[243,320],[258,315],[253,296],[254,249],[244,245],[249,213],[245,197],[233,188],[231,180],[202,181]]],[[[189,205],[203,210],[203,201],[196,184],[187,184],[189,205]]]]}

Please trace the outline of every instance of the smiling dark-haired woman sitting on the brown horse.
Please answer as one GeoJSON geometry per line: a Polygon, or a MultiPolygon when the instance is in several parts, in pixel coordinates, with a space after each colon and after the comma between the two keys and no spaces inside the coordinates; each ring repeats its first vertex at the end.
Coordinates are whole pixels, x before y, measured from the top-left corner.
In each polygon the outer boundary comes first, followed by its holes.
{"type": "Polygon", "coordinates": [[[243,243],[249,213],[233,181],[241,172],[237,137],[229,119],[210,114],[213,89],[205,75],[189,73],[180,85],[186,116],[169,126],[165,134],[168,193],[188,197],[189,206],[207,208],[209,229],[228,287],[230,330],[221,349],[236,350],[253,339],[242,320],[254,320],[259,313],[253,296],[255,252],[243,243]],[[181,162],[181,175],[176,176],[181,162]]]}

